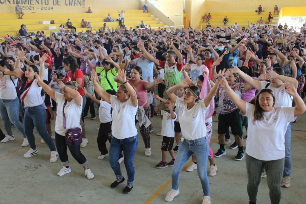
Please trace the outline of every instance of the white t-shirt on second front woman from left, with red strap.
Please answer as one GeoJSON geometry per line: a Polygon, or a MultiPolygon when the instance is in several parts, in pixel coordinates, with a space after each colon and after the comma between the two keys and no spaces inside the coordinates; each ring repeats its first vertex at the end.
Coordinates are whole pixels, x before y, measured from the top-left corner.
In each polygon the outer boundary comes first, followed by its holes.
{"type": "Polygon", "coordinates": [[[40,87],[36,81],[33,80],[30,87],[27,88],[22,94],[21,98],[24,102],[24,107],[34,107],[43,104],[43,98],[41,98],[40,91],[43,88],[40,87]]]}

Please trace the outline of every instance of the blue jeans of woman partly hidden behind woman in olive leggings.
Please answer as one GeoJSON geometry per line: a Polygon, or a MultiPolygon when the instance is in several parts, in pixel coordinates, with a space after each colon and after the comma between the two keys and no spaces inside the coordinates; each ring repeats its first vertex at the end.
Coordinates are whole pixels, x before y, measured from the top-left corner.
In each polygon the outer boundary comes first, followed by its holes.
{"type": "Polygon", "coordinates": [[[285,133],[285,165],[283,177],[290,176],[291,174],[291,124],[287,126],[287,131],[285,133]]]}

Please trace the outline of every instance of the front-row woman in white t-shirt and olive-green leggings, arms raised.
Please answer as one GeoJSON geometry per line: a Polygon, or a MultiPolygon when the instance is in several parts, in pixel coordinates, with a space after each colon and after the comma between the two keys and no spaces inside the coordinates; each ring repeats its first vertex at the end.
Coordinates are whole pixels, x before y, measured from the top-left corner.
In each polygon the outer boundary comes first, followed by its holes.
{"type": "Polygon", "coordinates": [[[284,135],[288,124],[294,121],[294,117],[303,114],[306,106],[298,95],[296,87],[289,82],[285,83],[284,91],[293,96],[296,107],[275,107],[279,98],[276,98],[273,91],[267,88],[261,89],[251,103],[245,102],[230,88],[222,74],[219,74],[218,81],[241,113],[248,117],[245,162],[248,172],[249,203],[256,203],[263,168],[267,172],[271,203],[279,203],[285,161],[284,135]]]}

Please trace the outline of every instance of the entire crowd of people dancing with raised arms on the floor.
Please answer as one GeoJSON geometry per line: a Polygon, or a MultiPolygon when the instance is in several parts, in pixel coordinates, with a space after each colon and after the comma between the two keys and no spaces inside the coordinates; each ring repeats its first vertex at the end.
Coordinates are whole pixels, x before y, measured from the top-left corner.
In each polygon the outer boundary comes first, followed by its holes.
{"type": "MultiPolygon", "coordinates": [[[[73,26],[69,20],[68,24],[73,26]]],[[[109,158],[116,177],[111,188],[125,181],[120,168],[124,161],[127,184],[123,193],[130,193],[136,176],[136,124],[144,156],[151,156],[150,134],[155,124],[150,119],[161,115],[162,129],[157,135],[163,136],[162,159],[155,167],[172,166],[172,189],[165,200],[172,201],[179,194],[180,172],[192,156],[187,171],[198,170],[206,204],[211,203],[207,162],[209,176],[215,176],[215,161],[226,155],[225,145],[230,144],[230,127],[235,140],[230,148],[238,148],[233,159],[246,160],[249,203],[256,203],[264,176],[271,203],[279,203],[280,187],[290,186],[290,122],[306,110],[302,100],[305,24],[300,31],[288,26],[260,29],[255,24],[242,29],[169,29],[104,28],[51,32],[50,36],[38,32],[35,38],[5,37],[0,49],[0,116],[6,134],[1,135],[1,142],[15,140],[13,124],[24,138],[21,146],[30,146],[24,158],[35,156],[39,153],[35,127],[50,149],[50,161],[60,158],[58,176],[71,172],[68,145],[92,179],[80,147],[88,143],[84,117],[90,110],[90,119],[95,119],[97,104],[98,159],[109,158]],[[214,154],[209,142],[217,108],[218,132],[214,134],[218,134],[219,149],[214,154]],[[53,110],[54,136],[47,128],[53,110]],[[243,126],[247,129],[245,148],[243,126]],[[167,163],[168,151],[171,161],[167,163]]]]}

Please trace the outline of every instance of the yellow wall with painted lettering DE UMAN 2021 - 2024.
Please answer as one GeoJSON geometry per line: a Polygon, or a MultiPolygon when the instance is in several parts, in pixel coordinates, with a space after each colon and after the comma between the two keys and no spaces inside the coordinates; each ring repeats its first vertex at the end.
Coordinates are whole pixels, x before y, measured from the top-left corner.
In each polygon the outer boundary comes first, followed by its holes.
{"type": "MultiPolygon", "coordinates": [[[[19,0],[25,13],[85,13],[99,9],[139,9],[139,0],[19,0]]],[[[16,0],[0,0],[0,13],[15,13],[16,0]]],[[[24,16],[26,18],[26,15],[24,16]]]]}

